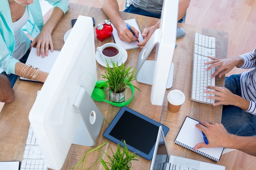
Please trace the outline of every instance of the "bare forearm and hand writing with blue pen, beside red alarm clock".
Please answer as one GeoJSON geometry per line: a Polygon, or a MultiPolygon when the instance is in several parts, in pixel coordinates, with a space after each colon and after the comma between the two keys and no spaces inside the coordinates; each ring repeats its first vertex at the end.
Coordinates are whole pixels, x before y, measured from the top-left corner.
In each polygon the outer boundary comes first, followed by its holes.
{"type": "MultiPolygon", "coordinates": [[[[129,31],[126,26],[126,22],[121,18],[119,12],[119,6],[117,0],[100,0],[101,8],[104,13],[107,15],[110,22],[117,29],[118,36],[120,40],[126,41],[128,43],[138,41],[135,36],[129,31]]],[[[137,37],[139,37],[139,31],[137,31],[134,27],[130,26],[132,31],[135,33],[137,37]]]]}

